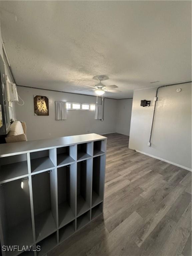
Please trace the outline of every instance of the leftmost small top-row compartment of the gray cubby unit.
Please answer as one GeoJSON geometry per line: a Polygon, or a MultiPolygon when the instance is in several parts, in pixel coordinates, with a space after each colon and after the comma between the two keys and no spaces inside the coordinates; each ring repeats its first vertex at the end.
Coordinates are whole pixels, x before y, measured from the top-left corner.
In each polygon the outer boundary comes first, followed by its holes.
{"type": "Polygon", "coordinates": [[[27,154],[0,158],[0,184],[28,174],[27,154]]]}

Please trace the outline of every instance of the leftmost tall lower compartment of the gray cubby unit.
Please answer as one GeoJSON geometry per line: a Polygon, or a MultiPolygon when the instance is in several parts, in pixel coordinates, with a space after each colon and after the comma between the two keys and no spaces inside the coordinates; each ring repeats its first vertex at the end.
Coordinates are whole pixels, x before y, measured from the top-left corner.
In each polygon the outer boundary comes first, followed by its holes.
{"type": "MultiPolygon", "coordinates": [[[[0,186],[0,211],[3,239],[1,246],[33,244],[29,181],[17,179],[0,186]]],[[[17,255],[18,251],[4,255],[17,255]]]]}

